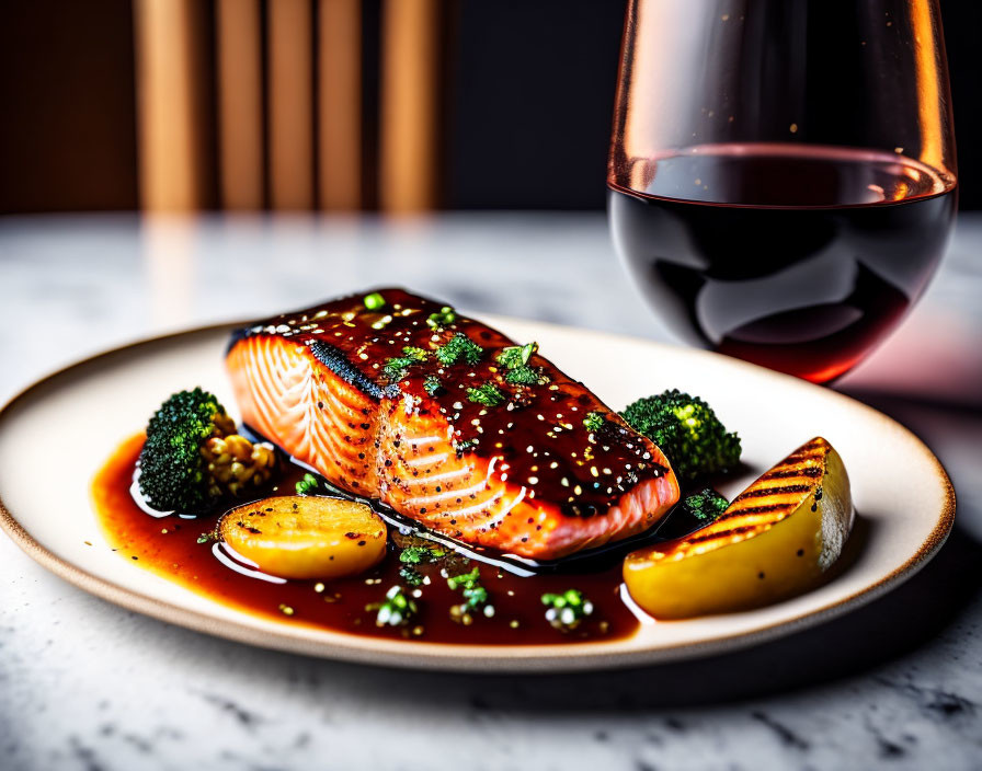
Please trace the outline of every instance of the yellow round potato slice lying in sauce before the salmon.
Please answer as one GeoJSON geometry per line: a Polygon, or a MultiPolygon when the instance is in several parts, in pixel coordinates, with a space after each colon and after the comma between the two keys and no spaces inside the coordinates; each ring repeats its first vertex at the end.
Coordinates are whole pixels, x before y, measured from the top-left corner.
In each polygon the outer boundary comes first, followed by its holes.
{"type": "Polygon", "coordinates": [[[356,575],[386,553],[386,525],[365,504],[285,495],[228,511],[221,539],[263,573],[282,578],[356,575]]]}

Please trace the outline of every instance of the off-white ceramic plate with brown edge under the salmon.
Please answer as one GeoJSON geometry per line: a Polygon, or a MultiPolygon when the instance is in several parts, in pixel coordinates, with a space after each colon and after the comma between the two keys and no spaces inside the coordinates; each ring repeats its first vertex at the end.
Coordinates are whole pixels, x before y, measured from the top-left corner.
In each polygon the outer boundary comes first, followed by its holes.
{"type": "MultiPolygon", "coordinates": [[[[834,580],[760,610],[642,625],[626,640],[575,645],[464,646],[358,637],[251,615],[194,594],[110,551],[89,486],[116,445],[170,393],[201,384],[233,400],[222,353],[230,326],[150,340],[98,356],[28,388],[0,412],[0,525],[62,578],[125,608],[255,645],[408,667],[557,671],[628,666],[738,648],[815,625],[888,591],[940,548],[955,495],[937,459],[907,429],[834,391],[734,359],[647,341],[512,319],[490,319],[536,340],[560,368],[623,407],[680,388],[709,401],[743,437],[742,490],[813,436],[848,469],[865,536],[834,580]],[[60,448],[71,448],[62,451],[60,448]],[[58,483],[50,483],[50,463],[58,483]],[[87,545],[85,542],[93,545],[87,545]]],[[[817,630],[815,634],[821,634],[817,630]]]]}

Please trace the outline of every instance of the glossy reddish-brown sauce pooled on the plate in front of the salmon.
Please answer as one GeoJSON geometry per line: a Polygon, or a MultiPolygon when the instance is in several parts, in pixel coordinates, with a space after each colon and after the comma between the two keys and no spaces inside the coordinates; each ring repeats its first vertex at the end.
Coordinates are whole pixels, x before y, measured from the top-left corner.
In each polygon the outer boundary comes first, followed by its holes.
{"type": "MultiPolygon", "coordinates": [[[[631,635],[639,625],[621,600],[620,563],[616,561],[595,572],[524,578],[470,562],[459,572],[479,565],[481,583],[495,612],[492,618],[475,612],[472,623],[467,625],[450,618],[450,608],[461,602],[460,592],[448,588],[438,564],[423,565],[420,571],[429,576],[430,584],[419,587],[419,615],[404,626],[377,626],[376,611],[368,606],[380,602],[389,587],[401,583],[399,552],[393,544],[372,571],[321,585],[299,580],[277,585],[240,575],[214,556],[210,543],[197,542],[202,533],[214,530],[218,515],[155,518],[134,503],[129,488],[142,441],[140,435],[121,445],[93,482],[93,499],[107,540],[121,556],[233,608],[350,634],[455,644],[546,645],[614,640],[631,635]],[[570,588],[583,591],[594,605],[593,613],[574,630],[556,630],[545,618],[540,597],[570,588]]],[[[302,473],[302,469],[288,465],[270,494],[293,494],[302,473]]]]}

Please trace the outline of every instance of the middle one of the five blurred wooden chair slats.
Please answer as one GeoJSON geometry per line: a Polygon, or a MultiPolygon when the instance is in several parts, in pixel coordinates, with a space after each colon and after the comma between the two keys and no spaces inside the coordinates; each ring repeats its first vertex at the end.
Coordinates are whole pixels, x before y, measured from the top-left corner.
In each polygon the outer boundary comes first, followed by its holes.
{"type": "Polygon", "coordinates": [[[310,0],[270,0],[270,198],[313,205],[313,60],[310,0]]]}

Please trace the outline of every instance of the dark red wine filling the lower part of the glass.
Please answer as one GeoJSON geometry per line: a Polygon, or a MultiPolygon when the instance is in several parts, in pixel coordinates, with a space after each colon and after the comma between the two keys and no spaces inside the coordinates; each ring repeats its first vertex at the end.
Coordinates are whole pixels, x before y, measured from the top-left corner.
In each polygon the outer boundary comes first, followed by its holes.
{"type": "Polygon", "coordinates": [[[954,183],[900,153],[718,145],[652,160],[649,177],[612,185],[609,216],[652,306],[694,344],[814,382],[897,324],[955,215],[954,183]]]}

